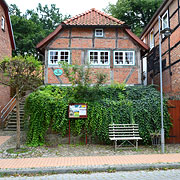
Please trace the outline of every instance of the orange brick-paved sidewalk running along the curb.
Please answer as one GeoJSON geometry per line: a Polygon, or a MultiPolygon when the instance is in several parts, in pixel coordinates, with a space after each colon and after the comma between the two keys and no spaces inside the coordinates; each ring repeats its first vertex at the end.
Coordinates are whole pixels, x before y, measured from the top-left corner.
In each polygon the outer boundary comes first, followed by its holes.
{"type": "Polygon", "coordinates": [[[72,167],[179,163],[180,154],[0,159],[0,168],[72,167]]]}

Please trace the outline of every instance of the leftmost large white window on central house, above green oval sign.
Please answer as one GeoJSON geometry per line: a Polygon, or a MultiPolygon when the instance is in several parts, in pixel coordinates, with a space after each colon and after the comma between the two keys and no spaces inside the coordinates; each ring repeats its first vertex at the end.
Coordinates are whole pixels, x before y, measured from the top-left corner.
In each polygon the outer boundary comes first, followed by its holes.
{"type": "Polygon", "coordinates": [[[69,50],[49,50],[48,65],[58,65],[59,62],[70,63],[69,50]]]}

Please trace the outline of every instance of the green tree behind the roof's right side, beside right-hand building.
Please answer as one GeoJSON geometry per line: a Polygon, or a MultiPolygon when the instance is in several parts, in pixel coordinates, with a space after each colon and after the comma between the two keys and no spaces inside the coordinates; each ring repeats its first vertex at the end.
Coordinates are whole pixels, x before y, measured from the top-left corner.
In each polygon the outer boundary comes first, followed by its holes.
{"type": "Polygon", "coordinates": [[[105,11],[125,21],[136,35],[140,35],[162,1],[163,0],[118,0],[116,4],[109,4],[105,11]]]}

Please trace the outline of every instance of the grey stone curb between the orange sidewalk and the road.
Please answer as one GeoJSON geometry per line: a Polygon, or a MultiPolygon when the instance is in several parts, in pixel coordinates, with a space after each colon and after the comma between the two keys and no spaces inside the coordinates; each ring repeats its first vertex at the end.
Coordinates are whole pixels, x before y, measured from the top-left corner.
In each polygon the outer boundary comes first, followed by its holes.
{"type": "Polygon", "coordinates": [[[81,171],[105,172],[115,171],[139,171],[156,170],[163,168],[180,169],[180,163],[159,163],[159,164],[133,164],[133,165],[95,165],[95,166],[70,166],[70,167],[46,167],[46,168],[23,168],[23,169],[0,169],[0,174],[38,174],[38,173],[56,173],[65,174],[81,171]]]}

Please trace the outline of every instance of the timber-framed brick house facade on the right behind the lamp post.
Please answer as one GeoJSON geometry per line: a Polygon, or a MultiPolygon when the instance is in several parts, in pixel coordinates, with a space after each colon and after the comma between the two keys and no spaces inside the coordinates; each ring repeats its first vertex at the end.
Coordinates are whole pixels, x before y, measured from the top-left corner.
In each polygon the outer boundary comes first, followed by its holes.
{"type": "Polygon", "coordinates": [[[171,35],[161,35],[163,92],[170,99],[180,98],[180,0],[164,0],[141,34],[141,40],[149,45],[147,57],[147,84],[159,85],[159,32],[171,29],[171,35]]]}

